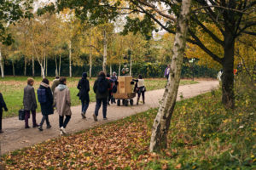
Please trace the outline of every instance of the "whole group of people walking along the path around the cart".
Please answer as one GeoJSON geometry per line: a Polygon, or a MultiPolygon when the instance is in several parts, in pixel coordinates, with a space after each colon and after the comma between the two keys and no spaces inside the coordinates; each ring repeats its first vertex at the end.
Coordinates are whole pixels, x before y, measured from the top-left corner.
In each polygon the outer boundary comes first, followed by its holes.
{"type": "MultiPolygon", "coordinates": [[[[96,94],[96,108],[93,114],[94,121],[97,121],[98,112],[102,106],[103,120],[107,120],[107,108],[109,102],[115,103],[113,98],[113,93],[116,93],[118,85],[118,77],[116,73],[113,72],[113,76],[106,75],[105,72],[100,71],[98,78],[94,82],[93,91],[96,94]]],[[[134,92],[138,94],[137,105],[139,103],[140,96],[143,96],[143,104],[145,103],[144,93],[146,88],[144,86],[144,80],[141,75],[138,79],[133,79],[136,82],[134,92]]],[[[68,122],[71,119],[71,96],[70,90],[67,88],[67,78],[66,77],[55,77],[52,82],[52,86],[49,87],[49,80],[44,78],[40,83],[37,90],[38,102],[41,105],[42,120],[40,124],[36,120],[36,110],[38,108],[35,90],[33,88],[34,80],[32,78],[27,79],[27,85],[24,88],[23,95],[23,106],[25,111],[25,128],[30,128],[29,118],[30,113],[32,113],[32,127],[38,127],[39,131],[43,131],[44,122],[46,122],[46,128],[50,128],[49,115],[54,113],[54,108],[59,114],[59,127],[60,133],[65,134],[68,122]]],[[[84,72],[82,78],[79,80],[77,88],[79,89],[78,97],[81,100],[81,116],[86,118],[86,111],[90,103],[90,82],[87,79],[87,74],[84,72]]],[[[2,130],[2,116],[3,109],[8,111],[8,108],[3,100],[3,95],[0,93],[0,133],[2,130]]]]}

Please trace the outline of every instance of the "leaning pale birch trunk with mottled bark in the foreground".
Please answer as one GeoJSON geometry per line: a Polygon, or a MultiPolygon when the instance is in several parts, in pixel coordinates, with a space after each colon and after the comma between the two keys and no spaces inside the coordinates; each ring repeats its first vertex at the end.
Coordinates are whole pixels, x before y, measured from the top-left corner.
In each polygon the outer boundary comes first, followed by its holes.
{"type": "Polygon", "coordinates": [[[159,151],[166,148],[167,133],[170,127],[172,113],[177,99],[177,89],[180,82],[183,55],[186,47],[189,12],[191,0],[183,0],[181,14],[177,18],[177,32],[175,35],[171,71],[169,82],[160,104],[157,116],[154,119],[149,150],[159,151]]]}

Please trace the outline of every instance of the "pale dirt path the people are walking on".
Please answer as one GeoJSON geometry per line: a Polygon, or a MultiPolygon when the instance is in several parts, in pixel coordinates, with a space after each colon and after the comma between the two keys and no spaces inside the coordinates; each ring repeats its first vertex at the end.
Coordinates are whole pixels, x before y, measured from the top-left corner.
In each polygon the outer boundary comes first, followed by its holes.
{"type": "MultiPolygon", "coordinates": [[[[183,98],[191,98],[199,94],[207,93],[211,91],[211,89],[218,87],[218,81],[199,82],[200,83],[193,85],[180,86],[178,90],[178,99],[181,94],[183,95],[183,98]]],[[[90,103],[90,106],[86,113],[86,120],[81,118],[81,106],[74,106],[72,107],[73,116],[71,118],[71,121],[67,125],[67,133],[78,132],[80,130],[95,127],[106,122],[113,122],[126,116],[131,116],[143,111],[148,111],[148,109],[150,108],[156,108],[159,106],[159,100],[161,99],[163,93],[164,89],[148,91],[146,93],[145,105],[140,104],[128,107],[111,105],[110,107],[108,107],[108,121],[103,121],[102,109],[99,112],[98,122],[93,121],[92,114],[95,109],[95,103],[90,103]]],[[[38,123],[41,118],[42,115],[37,114],[38,123]]],[[[17,116],[3,119],[4,133],[0,134],[0,155],[8,151],[21,149],[26,146],[38,144],[47,139],[52,139],[59,136],[60,132],[58,127],[58,114],[55,113],[54,115],[49,116],[49,122],[51,123],[52,127],[50,129],[45,129],[46,125],[44,124],[44,131],[39,132],[38,128],[25,129],[24,122],[19,121],[17,116]]],[[[29,125],[32,126],[32,119],[29,120],[29,125]]]]}

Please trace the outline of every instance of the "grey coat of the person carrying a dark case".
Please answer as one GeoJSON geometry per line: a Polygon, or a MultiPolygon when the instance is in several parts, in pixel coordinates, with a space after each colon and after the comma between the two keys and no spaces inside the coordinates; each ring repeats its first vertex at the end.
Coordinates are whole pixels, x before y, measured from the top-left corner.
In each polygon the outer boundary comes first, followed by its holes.
{"type": "Polygon", "coordinates": [[[25,111],[36,111],[38,107],[35,90],[31,85],[24,88],[23,105],[25,111]]]}

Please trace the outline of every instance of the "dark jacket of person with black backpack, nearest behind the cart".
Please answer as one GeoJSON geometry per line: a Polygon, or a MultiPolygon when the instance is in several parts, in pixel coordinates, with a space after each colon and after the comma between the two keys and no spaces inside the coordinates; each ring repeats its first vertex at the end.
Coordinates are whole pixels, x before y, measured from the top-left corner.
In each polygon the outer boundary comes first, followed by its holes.
{"type": "Polygon", "coordinates": [[[108,90],[101,94],[98,91],[98,84],[101,80],[105,81],[105,86],[106,88],[109,90],[111,88],[111,83],[109,82],[109,80],[106,77],[98,77],[98,79],[96,79],[96,81],[94,82],[94,86],[93,86],[93,91],[94,93],[96,93],[96,99],[107,99],[108,98],[108,90]]]}

